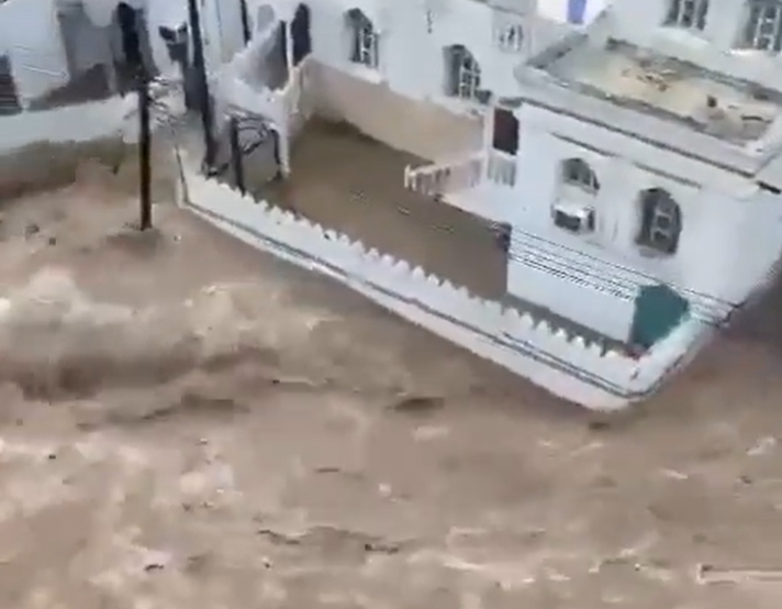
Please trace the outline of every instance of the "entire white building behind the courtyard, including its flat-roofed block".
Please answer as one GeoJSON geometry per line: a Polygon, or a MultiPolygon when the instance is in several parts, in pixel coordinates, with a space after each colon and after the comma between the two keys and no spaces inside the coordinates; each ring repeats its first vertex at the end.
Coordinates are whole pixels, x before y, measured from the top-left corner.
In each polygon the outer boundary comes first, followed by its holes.
{"type": "Polygon", "coordinates": [[[284,169],[304,88],[432,159],[410,188],[510,226],[507,295],[554,326],[635,355],[675,329],[694,345],[780,258],[782,2],[615,0],[570,20],[532,0],[249,4],[221,93],[269,119],[284,169]],[[252,68],[278,27],[279,87],[252,68]]]}

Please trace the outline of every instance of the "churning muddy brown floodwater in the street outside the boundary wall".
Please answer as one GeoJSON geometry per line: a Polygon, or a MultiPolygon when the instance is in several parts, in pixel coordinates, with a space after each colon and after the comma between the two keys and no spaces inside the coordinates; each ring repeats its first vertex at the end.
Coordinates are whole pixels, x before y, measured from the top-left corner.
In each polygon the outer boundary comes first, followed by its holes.
{"type": "Polygon", "coordinates": [[[780,607],[780,309],[603,418],[155,211],[2,210],[0,607],[780,607]]]}

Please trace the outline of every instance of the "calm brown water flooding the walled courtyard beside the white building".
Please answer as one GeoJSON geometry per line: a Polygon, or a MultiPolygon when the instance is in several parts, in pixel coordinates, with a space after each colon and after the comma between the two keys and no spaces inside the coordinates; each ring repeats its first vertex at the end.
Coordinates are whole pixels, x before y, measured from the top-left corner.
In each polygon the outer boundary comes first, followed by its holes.
{"type": "Polygon", "coordinates": [[[494,231],[474,215],[405,189],[405,165],[422,163],[345,123],[315,118],[293,145],[290,179],[271,179],[273,157],[262,146],[245,159],[245,171],[255,197],[499,300],[506,259],[494,231]]]}

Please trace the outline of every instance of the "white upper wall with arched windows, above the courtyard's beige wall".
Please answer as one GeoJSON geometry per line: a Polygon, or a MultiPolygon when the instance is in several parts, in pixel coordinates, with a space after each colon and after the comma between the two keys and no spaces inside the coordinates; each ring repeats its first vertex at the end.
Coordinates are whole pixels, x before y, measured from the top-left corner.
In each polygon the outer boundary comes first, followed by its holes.
{"type": "MultiPolygon", "coordinates": [[[[250,0],[250,16],[264,3],[250,0]]],[[[269,0],[266,3],[275,9],[280,19],[290,19],[298,4],[295,0],[269,0]]],[[[518,22],[525,32],[525,45],[521,53],[503,53],[495,44],[495,25],[501,11],[485,2],[320,0],[309,5],[313,56],[319,62],[357,78],[387,84],[393,91],[409,98],[444,103],[457,112],[481,109],[444,95],[446,46],[466,46],[482,68],[483,88],[505,96],[518,91],[513,68],[526,55],[539,52],[567,31],[561,23],[538,19],[534,5],[530,12],[523,15],[507,16],[502,12],[503,19],[518,22]],[[380,65],[377,70],[349,62],[346,13],[350,9],[361,10],[380,33],[380,65]]]]}

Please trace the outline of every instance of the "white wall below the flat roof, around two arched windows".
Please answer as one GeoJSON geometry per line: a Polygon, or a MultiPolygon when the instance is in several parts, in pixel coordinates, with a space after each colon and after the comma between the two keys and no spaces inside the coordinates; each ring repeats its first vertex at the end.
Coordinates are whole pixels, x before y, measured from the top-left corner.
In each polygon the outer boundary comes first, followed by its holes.
{"type": "Polygon", "coordinates": [[[729,312],[728,303],[742,302],[779,259],[782,199],[751,180],[539,108],[522,107],[517,117],[518,179],[503,210],[516,229],[511,292],[619,337],[626,336],[639,286],[677,286],[697,317],[715,321],[729,312]],[[572,198],[561,187],[560,164],[573,157],[586,160],[601,185],[596,197],[580,195],[596,213],[595,231],[586,235],[559,229],[551,219],[552,203],[572,198]],[[647,188],[664,188],[681,208],[683,230],[671,256],[649,257],[635,243],[638,195],[647,188]],[[549,261],[557,276],[537,274],[536,280],[523,258],[549,261]],[[606,299],[612,292],[619,295],[614,301],[606,299]]]}

